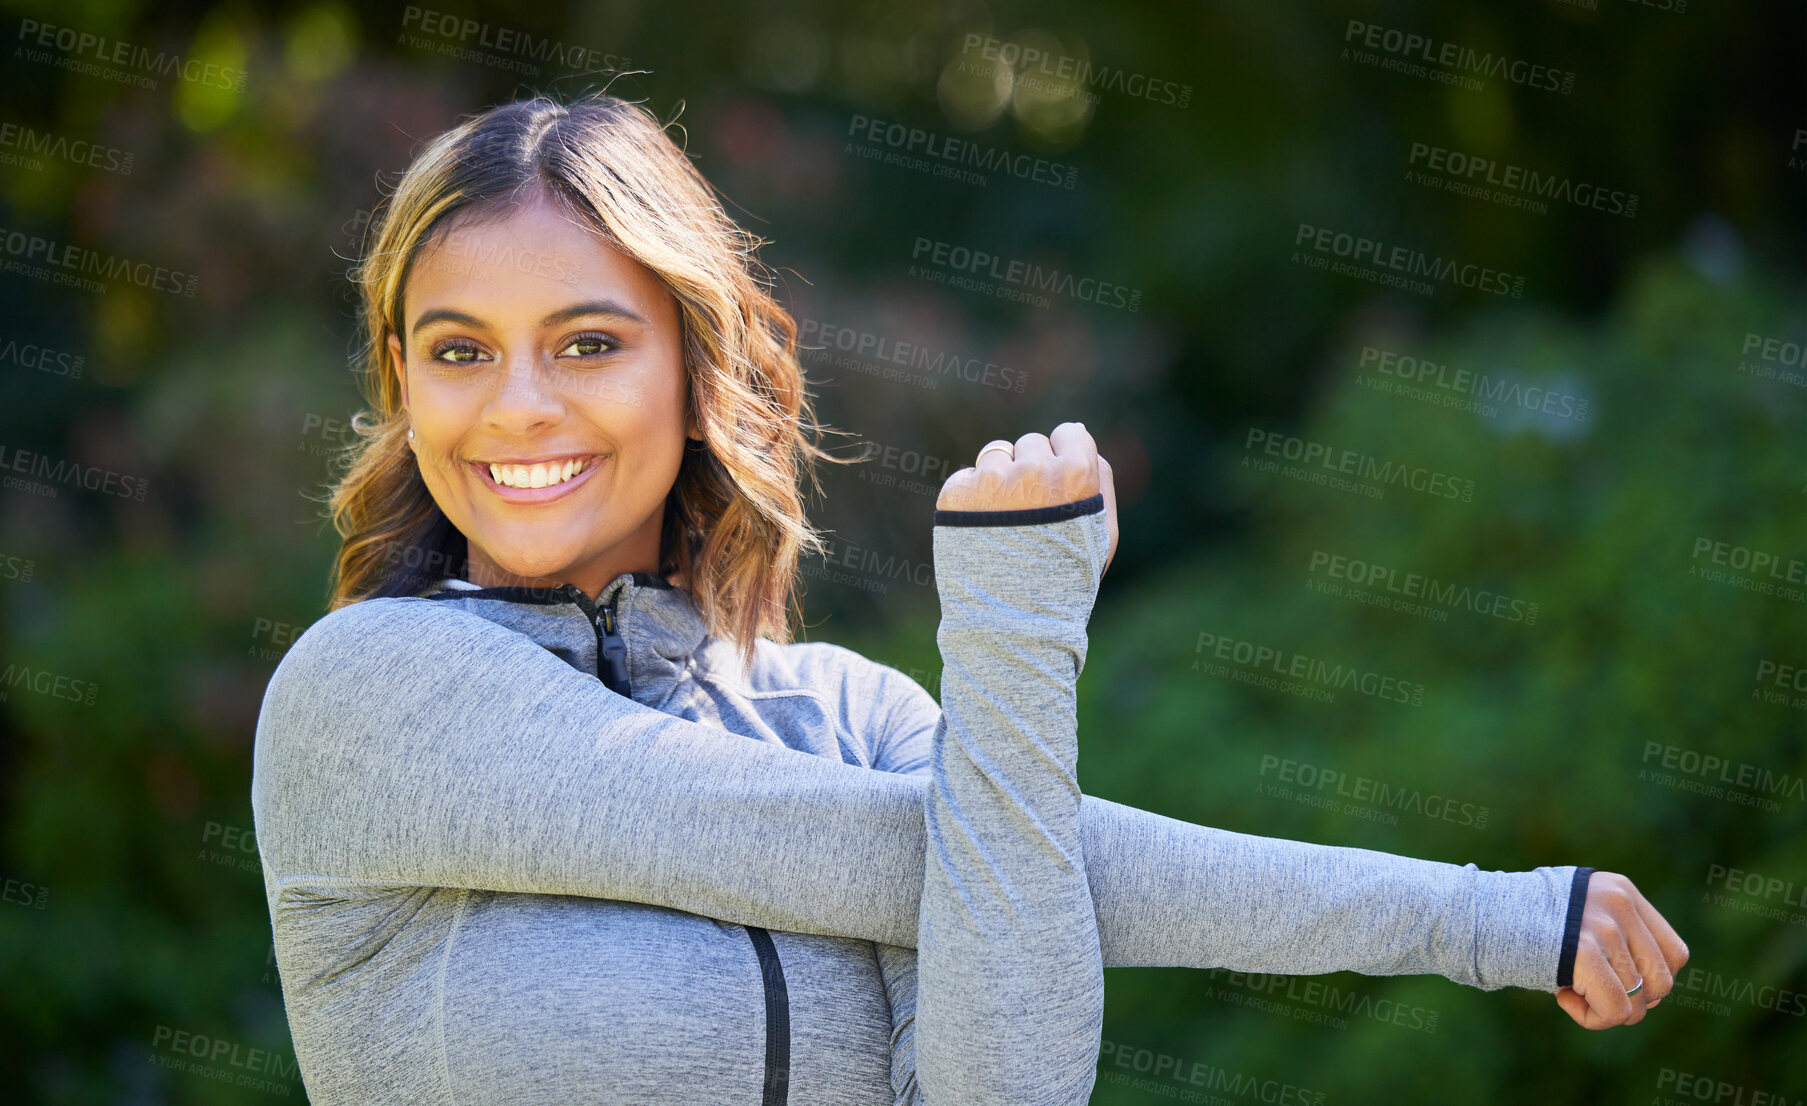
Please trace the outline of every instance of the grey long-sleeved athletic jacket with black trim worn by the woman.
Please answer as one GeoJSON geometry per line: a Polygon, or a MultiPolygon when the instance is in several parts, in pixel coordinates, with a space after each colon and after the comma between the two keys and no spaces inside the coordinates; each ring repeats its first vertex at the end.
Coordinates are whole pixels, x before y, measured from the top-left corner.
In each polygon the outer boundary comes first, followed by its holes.
{"type": "Polygon", "coordinates": [[[309,627],[251,779],[309,1099],[1084,1102],[1102,967],[1568,981],[1592,869],[1081,795],[1102,499],[934,520],[941,705],[640,573],[309,627]]]}

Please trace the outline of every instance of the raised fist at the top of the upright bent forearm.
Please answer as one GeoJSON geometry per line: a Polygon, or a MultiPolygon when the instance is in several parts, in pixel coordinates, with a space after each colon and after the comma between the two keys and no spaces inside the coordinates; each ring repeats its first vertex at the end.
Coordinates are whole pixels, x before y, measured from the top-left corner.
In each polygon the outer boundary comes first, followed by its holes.
{"type": "Polygon", "coordinates": [[[1061,506],[1104,493],[1104,520],[1111,546],[1106,571],[1117,555],[1117,488],[1111,464],[1099,455],[1084,423],[1061,423],[1053,434],[1025,434],[1008,443],[994,439],[979,450],[972,468],[961,468],[941,484],[934,501],[940,511],[1017,511],[1061,506]],[[1010,452],[988,446],[1010,446],[1010,452]]]}

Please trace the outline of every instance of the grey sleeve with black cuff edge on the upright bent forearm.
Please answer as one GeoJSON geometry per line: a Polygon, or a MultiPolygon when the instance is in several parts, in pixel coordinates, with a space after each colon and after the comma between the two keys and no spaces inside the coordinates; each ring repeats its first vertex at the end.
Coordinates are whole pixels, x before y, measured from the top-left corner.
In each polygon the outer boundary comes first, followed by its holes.
{"type": "MultiPolygon", "coordinates": [[[[929,1106],[1091,1097],[1104,965],[1079,830],[1075,683],[1108,549],[1102,495],[936,511],[945,663],[914,1008],[929,1106]]],[[[893,1090],[907,1092],[898,1059],[893,1090]]]]}

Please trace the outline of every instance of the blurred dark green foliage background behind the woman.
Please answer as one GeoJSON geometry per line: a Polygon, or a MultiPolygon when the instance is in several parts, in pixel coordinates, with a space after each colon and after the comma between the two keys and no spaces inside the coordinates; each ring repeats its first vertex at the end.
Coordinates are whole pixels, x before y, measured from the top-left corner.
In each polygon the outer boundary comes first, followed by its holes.
{"type": "MultiPolygon", "coordinates": [[[[226,1072],[251,1048],[287,1054],[251,734],[284,647],[323,611],[318,497],[360,407],[347,260],[379,173],[417,143],[499,99],[602,81],[428,33],[428,13],[593,47],[640,70],[614,90],[661,117],[681,105],[687,148],[772,240],[781,295],[817,334],[960,351],[1026,381],[923,387],[875,360],[806,360],[822,417],[857,436],[846,450],[878,454],[822,473],[813,515],[862,567],[858,584],[804,578],[802,636],[938,690],[923,466],[1082,417],[1122,502],[1081,681],[1088,793],[1484,869],[1621,871],[1691,947],[1675,996],[1605,1034],[1547,996],[1433,976],[1111,969],[1095,1102],[1202,1092],[1200,1066],[1241,1081],[1214,1092],[1229,1101],[1279,1084],[1326,1102],[1807,1101],[1807,690],[1787,676],[1807,667],[1800,5],[4,13],[0,468],[33,454],[145,492],[0,490],[0,1070],[23,1101],[304,1097],[293,1075],[271,1092],[164,1061],[177,1032],[237,1050],[213,1064],[226,1072]],[[1574,87],[1382,69],[1355,23],[1532,60],[1574,87]],[[101,76],[99,47],[63,31],[246,83],[101,76]],[[987,40],[1115,67],[1147,94],[1037,98],[1028,74],[978,63],[987,40]],[[1021,90],[997,101],[999,80],[1021,90]],[[1039,157],[1075,184],[887,163],[860,119],[1039,157]],[[1639,202],[1626,217],[1456,195],[1413,175],[1420,148],[1639,202]],[[1296,260],[1301,224],[1485,264],[1523,295],[1314,271],[1296,260]],[[33,269],[33,239],[195,275],[195,293],[58,284],[33,269]],[[1035,307],[936,286],[909,271],[923,239],[1140,298],[1035,307]],[[1381,351],[1437,369],[1408,392],[1381,351]],[[1447,383],[1462,372],[1489,394],[1447,383]],[[1467,495],[1288,470],[1287,443],[1467,495]],[[1737,567],[1749,553],[1773,564],[1737,567]],[[1330,558],[1520,605],[1361,602],[1330,558]],[[1263,685],[1236,643],[1420,698],[1263,685]],[[1681,768],[1708,755],[1767,783],[1681,768]],[[1355,781],[1406,799],[1355,799],[1355,781]],[[1424,797],[1456,815],[1424,813],[1424,797]],[[1785,889],[1727,887],[1726,869],[1785,889]]],[[[141,74],[130,56],[116,69],[141,74]]]]}

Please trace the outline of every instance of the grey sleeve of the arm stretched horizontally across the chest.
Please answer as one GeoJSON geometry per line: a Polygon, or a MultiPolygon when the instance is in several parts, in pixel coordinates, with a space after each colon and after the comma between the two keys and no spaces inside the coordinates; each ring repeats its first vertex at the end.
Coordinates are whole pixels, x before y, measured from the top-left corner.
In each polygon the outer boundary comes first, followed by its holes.
{"type": "MultiPolygon", "coordinates": [[[[663,714],[481,616],[378,598],[278,663],[251,810],[276,896],[307,876],[582,895],[914,949],[927,783],[663,714]]],[[[1478,871],[1081,799],[1106,967],[1556,985],[1572,867],[1478,871]]]]}

